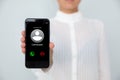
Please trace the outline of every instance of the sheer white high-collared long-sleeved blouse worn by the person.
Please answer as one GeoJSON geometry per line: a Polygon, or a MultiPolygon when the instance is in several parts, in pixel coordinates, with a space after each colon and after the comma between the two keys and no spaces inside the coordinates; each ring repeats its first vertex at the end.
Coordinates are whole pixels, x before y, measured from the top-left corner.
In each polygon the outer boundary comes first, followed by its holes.
{"type": "Polygon", "coordinates": [[[47,72],[33,70],[38,80],[110,80],[104,25],[80,12],[57,12],[51,19],[55,44],[53,65],[47,72]]]}

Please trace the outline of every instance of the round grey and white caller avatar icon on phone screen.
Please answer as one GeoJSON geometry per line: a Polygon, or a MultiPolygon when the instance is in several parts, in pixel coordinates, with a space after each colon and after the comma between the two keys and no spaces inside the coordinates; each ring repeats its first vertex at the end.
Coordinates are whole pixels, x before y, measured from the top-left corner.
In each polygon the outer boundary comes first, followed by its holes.
{"type": "Polygon", "coordinates": [[[40,29],[35,29],[31,33],[31,39],[35,43],[39,43],[44,39],[44,33],[40,29]]]}

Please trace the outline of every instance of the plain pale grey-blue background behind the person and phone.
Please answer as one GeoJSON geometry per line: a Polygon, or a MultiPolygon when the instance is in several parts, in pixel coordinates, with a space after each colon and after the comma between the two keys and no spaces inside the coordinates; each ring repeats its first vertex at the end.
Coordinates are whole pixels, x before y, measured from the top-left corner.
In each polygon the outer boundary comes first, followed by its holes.
{"type": "MultiPolygon", "coordinates": [[[[54,17],[57,0],[0,0],[0,80],[36,80],[20,48],[24,20],[54,17]]],[[[84,16],[105,23],[112,80],[120,80],[120,0],[82,0],[84,16]]]]}

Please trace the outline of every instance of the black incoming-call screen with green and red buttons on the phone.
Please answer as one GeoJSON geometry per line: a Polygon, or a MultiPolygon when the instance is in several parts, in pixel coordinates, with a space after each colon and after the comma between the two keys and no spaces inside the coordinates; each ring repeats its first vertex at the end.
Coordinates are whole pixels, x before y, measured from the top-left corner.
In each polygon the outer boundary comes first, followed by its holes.
{"type": "Polygon", "coordinates": [[[49,21],[26,22],[26,60],[49,61],[49,21]]]}

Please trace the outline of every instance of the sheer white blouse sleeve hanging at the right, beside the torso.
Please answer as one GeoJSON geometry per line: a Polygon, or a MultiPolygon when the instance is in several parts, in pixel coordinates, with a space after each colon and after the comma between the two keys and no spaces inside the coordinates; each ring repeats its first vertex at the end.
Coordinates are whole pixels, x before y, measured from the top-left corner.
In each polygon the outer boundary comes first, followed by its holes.
{"type": "Polygon", "coordinates": [[[106,34],[103,23],[100,23],[99,65],[100,80],[111,80],[106,34]]]}

